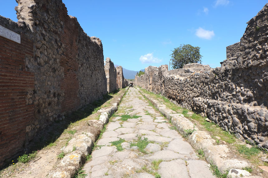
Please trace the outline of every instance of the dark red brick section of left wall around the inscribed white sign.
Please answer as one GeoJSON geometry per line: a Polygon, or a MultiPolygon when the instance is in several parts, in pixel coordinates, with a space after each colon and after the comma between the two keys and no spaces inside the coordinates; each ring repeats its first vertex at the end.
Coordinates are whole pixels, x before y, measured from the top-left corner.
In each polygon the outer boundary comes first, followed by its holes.
{"type": "MultiPolygon", "coordinates": [[[[6,28],[21,35],[21,44],[0,36],[0,160],[9,158],[25,144],[26,126],[34,119],[33,104],[26,104],[34,89],[34,75],[26,71],[26,59],[33,56],[33,43],[15,23],[0,16],[6,28]],[[14,28],[15,26],[15,28],[14,28]],[[8,154],[7,154],[8,153],[8,154]]],[[[1,166],[0,162],[0,166],[1,166]]]]}

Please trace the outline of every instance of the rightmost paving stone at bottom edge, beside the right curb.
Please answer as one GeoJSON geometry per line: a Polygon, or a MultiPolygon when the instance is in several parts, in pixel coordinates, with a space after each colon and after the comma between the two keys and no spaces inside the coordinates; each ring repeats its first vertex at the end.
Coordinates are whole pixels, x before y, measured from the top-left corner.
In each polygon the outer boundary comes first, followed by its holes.
{"type": "Polygon", "coordinates": [[[209,170],[208,163],[202,160],[188,160],[187,161],[189,175],[191,178],[216,178],[209,170]]]}

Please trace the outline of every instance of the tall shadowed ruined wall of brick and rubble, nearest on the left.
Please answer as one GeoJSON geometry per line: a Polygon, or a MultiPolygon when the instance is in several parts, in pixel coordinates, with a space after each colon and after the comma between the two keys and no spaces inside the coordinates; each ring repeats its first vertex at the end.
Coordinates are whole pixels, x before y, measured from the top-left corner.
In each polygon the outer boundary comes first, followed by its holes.
{"type": "Polygon", "coordinates": [[[0,17],[22,40],[0,36],[0,166],[38,130],[107,93],[101,40],[61,0],[17,2],[18,23],[0,17]]]}

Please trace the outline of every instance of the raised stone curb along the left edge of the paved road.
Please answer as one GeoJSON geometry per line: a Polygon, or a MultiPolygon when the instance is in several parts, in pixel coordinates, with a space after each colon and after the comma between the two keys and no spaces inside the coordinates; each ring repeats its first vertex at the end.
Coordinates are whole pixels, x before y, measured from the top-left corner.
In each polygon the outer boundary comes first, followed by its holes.
{"type": "MultiPolygon", "coordinates": [[[[105,107],[101,110],[101,115],[99,117],[99,124],[101,124],[100,130],[103,130],[105,124],[108,123],[109,117],[112,116],[114,112],[117,111],[118,105],[122,100],[124,94],[127,92],[129,87],[125,90],[125,92],[119,94],[119,98],[113,101],[111,107],[105,107]]],[[[98,112],[99,113],[99,112],[98,112]]],[[[97,138],[95,138],[96,140],[97,138]]],[[[49,178],[72,178],[75,172],[84,165],[86,155],[91,153],[91,149],[93,146],[92,140],[87,137],[85,134],[77,135],[73,139],[68,142],[67,149],[65,152],[68,151],[69,147],[75,147],[75,151],[66,154],[57,165],[55,170],[49,173],[49,178]],[[85,138],[86,137],[86,138],[85,138]],[[75,141],[74,141],[75,140],[75,141]],[[89,141],[90,140],[90,141],[89,141]],[[70,143],[70,146],[69,146],[70,143]]]]}

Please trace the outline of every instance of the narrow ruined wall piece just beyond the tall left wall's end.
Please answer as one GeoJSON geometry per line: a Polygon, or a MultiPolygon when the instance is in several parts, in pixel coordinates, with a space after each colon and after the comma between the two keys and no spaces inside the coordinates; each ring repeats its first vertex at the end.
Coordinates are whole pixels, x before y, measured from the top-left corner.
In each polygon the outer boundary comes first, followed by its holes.
{"type": "Polygon", "coordinates": [[[117,71],[109,57],[106,58],[104,71],[107,78],[107,92],[110,93],[118,88],[116,80],[117,71]]]}

